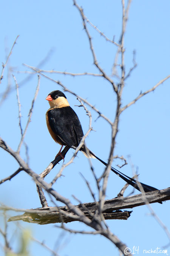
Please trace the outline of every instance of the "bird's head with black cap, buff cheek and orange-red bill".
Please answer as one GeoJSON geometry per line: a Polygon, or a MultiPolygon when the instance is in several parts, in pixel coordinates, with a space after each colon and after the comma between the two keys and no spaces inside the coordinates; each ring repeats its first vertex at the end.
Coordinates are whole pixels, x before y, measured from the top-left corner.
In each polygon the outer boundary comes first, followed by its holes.
{"type": "Polygon", "coordinates": [[[63,108],[70,106],[65,94],[63,94],[62,91],[59,90],[49,93],[46,97],[46,100],[49,102],[51,108],[63,108]]]}

